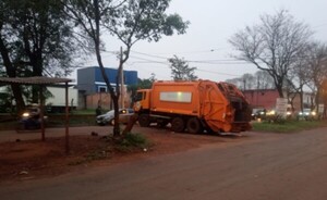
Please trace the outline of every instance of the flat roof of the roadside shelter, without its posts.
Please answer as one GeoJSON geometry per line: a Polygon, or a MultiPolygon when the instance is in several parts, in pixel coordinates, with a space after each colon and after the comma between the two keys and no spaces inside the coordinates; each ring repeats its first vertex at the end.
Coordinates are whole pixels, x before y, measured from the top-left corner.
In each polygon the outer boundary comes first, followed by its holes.
{"type": "Polygon", "coordinates": [[[72,82],[70,78],[52,78],[45,76],[33,77],[0,77],[0,84],[21,84],[21,85],[52,85],[72,82]]]}

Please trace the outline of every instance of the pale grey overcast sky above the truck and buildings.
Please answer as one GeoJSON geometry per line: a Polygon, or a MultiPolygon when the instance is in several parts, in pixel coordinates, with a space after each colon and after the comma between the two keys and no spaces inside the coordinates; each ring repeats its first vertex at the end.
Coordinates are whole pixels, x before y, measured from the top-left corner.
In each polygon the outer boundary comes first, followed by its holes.
{"type": "MultiPolygon", "coordinates": [[[[154,73],[157,79],[171,79],[167,59],[175,54],[196,66],[195,75],[202,79],[219,82],[255,73],[257,68],[252,64],[230,57],[235,52],[228,39],[246,25],[257,23],[261,15],[275,14],[280,9],[310,25],[315,33],[313,39],[327,42],[327,0],[171,0],[168,12],[191,23],[186,34],[164,37],[159,42],[138,41],[124,70],[137,71],[140,78],[149,78],[154,73]]],[[[121,46],[111,37],[106,37],[106,45],[107,51],[119,51],[121,46]]],[[[118,66],[112,53],[102,57],[106,67],[118,66]]],[[[97,66],[95,59],[84,63],[90,65],[97,66]]]]}

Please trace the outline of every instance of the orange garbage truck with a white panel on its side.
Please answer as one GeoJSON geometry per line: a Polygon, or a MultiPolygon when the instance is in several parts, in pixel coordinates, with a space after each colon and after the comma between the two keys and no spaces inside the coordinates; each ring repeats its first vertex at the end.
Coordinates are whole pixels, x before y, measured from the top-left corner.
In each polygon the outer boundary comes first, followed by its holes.
{"type": "Polygon", "coordinates": [[[177,133],[251,129],[249,102],[234,85],[222,82],[155,82],[152,89],[137,90],[134,111],[141,126],[171,124],[177,133]]]}

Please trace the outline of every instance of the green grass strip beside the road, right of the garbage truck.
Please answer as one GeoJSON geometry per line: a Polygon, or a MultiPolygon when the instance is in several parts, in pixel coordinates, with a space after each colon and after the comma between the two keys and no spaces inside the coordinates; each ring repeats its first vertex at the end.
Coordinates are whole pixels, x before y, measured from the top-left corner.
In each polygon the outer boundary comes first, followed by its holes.
{"type": "Polygon", "coordinates": [[[254,122],[254,132],[295,133],[317,127],[326,127],[326,121],[284,121],[283,123],[254,122]]]}

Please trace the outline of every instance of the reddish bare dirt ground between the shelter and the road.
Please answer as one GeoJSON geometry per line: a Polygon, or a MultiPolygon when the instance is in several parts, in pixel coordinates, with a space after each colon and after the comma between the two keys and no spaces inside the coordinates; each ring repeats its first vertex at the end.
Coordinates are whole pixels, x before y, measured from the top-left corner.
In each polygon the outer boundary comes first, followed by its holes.
{"type": "MultiPolygon", "coordinates": [[[[87,127],[86,132],[87,132],[87,127]]],[[[85,128],[83,128],[85,130],[85,128]]],[[[89,132],[92,133],[92,128],[89,132]]],[[[166,129],[144,128],[137,132],[152,142],[149,149],[122,151],[102,136],[70,137],[70,154],[64,151],[64,137],[16,140],[0,143],[0,183],[52,177],[96,166],[112,165],[131,160],[174,153],[206,143],[227,142],[232,137],[175,134],[166,129]]]]}

